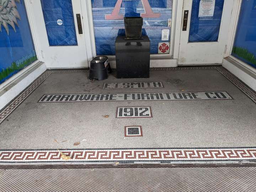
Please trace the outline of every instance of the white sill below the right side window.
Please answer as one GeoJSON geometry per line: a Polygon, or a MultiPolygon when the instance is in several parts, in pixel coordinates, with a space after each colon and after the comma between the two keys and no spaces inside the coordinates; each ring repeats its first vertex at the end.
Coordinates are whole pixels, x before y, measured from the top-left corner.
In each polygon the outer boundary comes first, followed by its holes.
{"type": "Polygon", "coordinates": [[[224,58],[223,67],[228,69],[251,89],[256,91],[256,69],[233,56],[224,58]]]}

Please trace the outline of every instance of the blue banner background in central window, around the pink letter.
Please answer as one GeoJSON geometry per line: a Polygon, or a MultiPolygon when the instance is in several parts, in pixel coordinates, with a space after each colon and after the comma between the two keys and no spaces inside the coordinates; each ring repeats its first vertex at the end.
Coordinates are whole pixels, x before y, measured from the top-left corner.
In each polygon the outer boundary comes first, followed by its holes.
{"type": "MultiPolygon", "coordinates": [[[[91,0],[92,14],[94,22],[94,33],[97,55],[114,55],[115,41],[118,36],[119,29],[124,29],[123,18],[106,19],[106,15],[110,15],[114,7],[119,1],[117,0],[91,0]]],[[[162,41],[162,30],[169,29],[168,19],[172,18],[172,0],[148,0],[154,13],[160,13],[156,17],[144,17],[143,33],[149,36],[151,41],[150,53],[158,54],[158,43],[170,42],[162,41]]],[[[140,16],[145,13],[142,0],[122,0],[119,14],[125,16],[140,16]]],[[[120,33],[119,34],[123,34],[120,33]]]]}

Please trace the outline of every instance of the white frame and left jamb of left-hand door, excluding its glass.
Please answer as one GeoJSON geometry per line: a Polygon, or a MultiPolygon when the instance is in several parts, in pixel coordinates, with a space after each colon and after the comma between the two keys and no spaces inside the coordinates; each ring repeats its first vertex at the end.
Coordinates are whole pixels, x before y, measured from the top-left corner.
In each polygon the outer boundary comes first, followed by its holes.
{"type": "MultiPolygon", "coordinates": [[[[30,25],[31,28],[34,28],[35,34],[33,35],[34,44],[35,47],[37,47],[36,52],[38,55],[38,59],[42,62],[46,63],[46,67],[48,69],[62,69],[62,68],[87,68],[88,67],[88,56],[87,56],[87,49],[90,50],[90,46],[87,48],[87,42],[90,42],[90,34],[88,27],[85,27],[84,24],[86,21],[82,21],[82,27],[83,27],[83,34],[78,34],[78,26],[75,14],[80,14],[82,16],[82,10],[81,10],[81,4],[78,0],[73,0],[73,12],[74,12],[74,21],[75,21],[75,29],[76,29],[76,37],[78,41],[78,46],[49,46],[48,43],[48,36],[46,33],[46,26],[44,24],[44,18],[43,18],[43,12],[41,8],[41,2],[40,0],[25,0],[26,6],[28,9],[28,12],[30,13],[30,25]],[[36,8],[35,8],[36,7],[36,8]],[[40,9],[39,9],[40,7],[40,9]],[[34,11],[36,9],[36,12],[34,11]],[[74,51],[76,48],[78,52],[75,52],[77,56],[74,56],[76,58],[80,58],[81,55],[81,61],[79,60],[80,64],[76,64],[76,61],[73,61],[71,57],[68,57],[70,55],[70,50],[68,48],[71,48],[72,51],[74,51]],[[73,47],[73,48],[72,48],[73,47]],[[54,52],[55,54],[52,54],[54,52]],[[57,51],[58,50],[58,51],[57,51]],[[82,50],[82,51],[81,51],[82,50]],[[55,55],[57,55],[55,57],[55,55]],[[59,59],[63,58],[63,59],[59,59]],[[63,65],[63,61],[70,60],[69,63],[67,62],[66,65],[63,65]],[[82,64],[81,64],[82,63],[82,64]]],[[[87,17],[84,17],[84,20],[86,20],[87,17]]],[[[90,43],[88,43],[90,45],[90,43]]],[[[74,54],[74,55],[75,55],[74,54]]],[[[89,55],[90,56],[90,55],[89,55]]],[[[77,59],[78,60],[78,59],[77,59]]]]}

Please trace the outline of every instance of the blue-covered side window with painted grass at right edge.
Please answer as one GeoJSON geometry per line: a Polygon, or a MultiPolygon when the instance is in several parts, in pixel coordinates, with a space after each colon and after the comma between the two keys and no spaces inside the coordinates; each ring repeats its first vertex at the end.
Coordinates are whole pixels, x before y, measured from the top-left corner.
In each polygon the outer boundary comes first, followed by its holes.
{"type": "Polygon", "coordinates": [[[256,68],[256,0],[242,1],[232,55],[256,68]]]}

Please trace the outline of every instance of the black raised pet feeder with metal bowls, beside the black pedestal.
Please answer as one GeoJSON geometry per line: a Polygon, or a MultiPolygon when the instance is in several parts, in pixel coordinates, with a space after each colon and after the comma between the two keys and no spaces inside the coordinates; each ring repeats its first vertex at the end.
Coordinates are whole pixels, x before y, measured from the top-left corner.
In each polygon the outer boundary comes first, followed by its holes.
{"type": "Polygon", "coordinates": [[[108,73],[111,73],[110,63],[108,62],[108,57],[98,56],[91,61],[90,65],[90,80],[105,80],[108,78],[108,73]]]}

